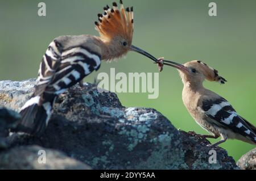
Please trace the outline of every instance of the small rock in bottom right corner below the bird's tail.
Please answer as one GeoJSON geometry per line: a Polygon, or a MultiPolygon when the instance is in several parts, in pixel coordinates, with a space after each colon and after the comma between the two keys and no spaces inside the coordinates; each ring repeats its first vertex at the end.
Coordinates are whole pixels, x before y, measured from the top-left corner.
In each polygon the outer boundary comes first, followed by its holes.
{"type": "Polygon", "coordinates": [[[237,165],[242,170],[256,170],[256,148],[243,155],[237,165]]]}

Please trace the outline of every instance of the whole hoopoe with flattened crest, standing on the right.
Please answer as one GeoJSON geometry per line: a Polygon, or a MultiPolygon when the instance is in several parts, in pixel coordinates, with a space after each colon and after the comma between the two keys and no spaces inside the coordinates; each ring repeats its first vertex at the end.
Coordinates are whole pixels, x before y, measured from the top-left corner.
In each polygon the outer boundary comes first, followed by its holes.
{"type": "Polygon", "coordinates": [[[228,138],[237,139],[256,145],[256,128],[243,119],[231,104],[220,95],[205,89],[205,79],[224,84],[226,79],[218,75],[218,71],[210,68],[202,61],[190,61],[184,65],[159,58],[159,70],[163,65],[176,68],[184,84],[182,99],[193,119],[212,135],[196,136],[204,138],[218,138],[221,141],[210,146],[213,148],[228,138]]]}

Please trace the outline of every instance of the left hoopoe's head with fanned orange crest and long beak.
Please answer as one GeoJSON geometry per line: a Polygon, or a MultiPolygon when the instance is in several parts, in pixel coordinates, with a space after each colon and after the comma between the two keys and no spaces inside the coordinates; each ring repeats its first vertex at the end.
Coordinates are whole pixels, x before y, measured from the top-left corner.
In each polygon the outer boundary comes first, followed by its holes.
{"type": "Polygon", "coordinates": [[[98,22],[95,22],[96,30],[100,33],[100,39],[107,47],[104,57],[106,60],[113,60],[125,56],[129,51],[138,52],[156,61],[151,54],[132,45],[134,19],[133,7],[123,6],[120,0],[120,7],[113,2],[113,7],[104,7],[104,14],[98,14],[98,22]]]}

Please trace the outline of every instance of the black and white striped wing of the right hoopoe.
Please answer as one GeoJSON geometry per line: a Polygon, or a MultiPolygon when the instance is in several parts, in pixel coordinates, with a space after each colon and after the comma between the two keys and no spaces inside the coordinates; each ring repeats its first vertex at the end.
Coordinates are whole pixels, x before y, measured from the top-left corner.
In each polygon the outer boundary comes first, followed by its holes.
{"type": "Polygon", "coordinates": [[[214,124],[256,142],[255,127],[239,116],[234,108],[224,98],[205,100],[200,107],[201,110],[214,120],[214,124]]]}

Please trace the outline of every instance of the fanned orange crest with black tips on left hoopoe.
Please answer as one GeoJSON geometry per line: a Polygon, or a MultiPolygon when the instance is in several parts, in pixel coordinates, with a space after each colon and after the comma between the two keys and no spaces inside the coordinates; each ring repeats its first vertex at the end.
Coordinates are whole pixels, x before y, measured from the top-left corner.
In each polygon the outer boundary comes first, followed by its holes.
{"type": "Polygon", "coordinates": [[[122,0],[120,9],[115,2],[112,9],[108,5],[104,7],[104,14],[98,14],[98,20],[96,30],[103,40],[110,41],[115,36],[121,36],[129,43],[133,40],[133,7],[125,10],[122,0]]]}

